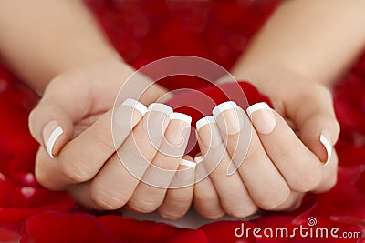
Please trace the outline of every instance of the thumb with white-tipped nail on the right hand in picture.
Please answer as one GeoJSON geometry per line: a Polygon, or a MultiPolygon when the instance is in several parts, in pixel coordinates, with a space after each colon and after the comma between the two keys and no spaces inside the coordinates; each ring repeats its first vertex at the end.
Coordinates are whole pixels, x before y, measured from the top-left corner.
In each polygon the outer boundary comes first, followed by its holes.
{"type": "Polygon", "coordinates": [[[306,97],[293,97],[289,104],[287,115],[296,124],[300,139],[323,163],[327,163],[339,139],[339,122],[330,92],[326,87],[316,85],[306,97]]]}

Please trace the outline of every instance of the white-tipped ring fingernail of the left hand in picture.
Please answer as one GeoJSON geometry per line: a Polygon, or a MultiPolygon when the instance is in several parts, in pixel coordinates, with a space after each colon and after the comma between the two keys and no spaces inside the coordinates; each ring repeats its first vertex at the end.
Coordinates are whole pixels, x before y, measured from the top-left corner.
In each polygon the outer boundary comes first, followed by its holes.
{"type": "Polygon", "coordinates": [[[183,113],[173,112],[169,114],[170,123],[165,132],[165,137],[173,146],[183,145],[189,139],[192,117],[183,113]]]}

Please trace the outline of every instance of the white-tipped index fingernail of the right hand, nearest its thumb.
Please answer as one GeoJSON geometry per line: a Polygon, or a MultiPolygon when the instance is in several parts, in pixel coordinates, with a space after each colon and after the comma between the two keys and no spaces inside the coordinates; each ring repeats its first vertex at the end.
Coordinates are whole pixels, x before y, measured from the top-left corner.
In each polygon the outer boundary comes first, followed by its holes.
{"type": "Polygon", "coordinates": [[[269,134],[276,127],[276,118],[270,106],[265,102],[256,103],[246,109],[257,132],[269,134]]]}

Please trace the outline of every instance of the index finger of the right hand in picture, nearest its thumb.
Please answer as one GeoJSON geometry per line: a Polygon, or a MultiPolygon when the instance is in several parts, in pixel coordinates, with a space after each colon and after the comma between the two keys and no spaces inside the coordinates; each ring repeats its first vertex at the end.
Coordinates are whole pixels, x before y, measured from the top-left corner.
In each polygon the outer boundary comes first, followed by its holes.
{"type": "Polygon", "coordinates": [[[266,154],[285,177],[289,187],[299,192],[318,187],[323,165],[294,134],[285,120],[266,103],[249,106],[247,114],[266,154]]]}

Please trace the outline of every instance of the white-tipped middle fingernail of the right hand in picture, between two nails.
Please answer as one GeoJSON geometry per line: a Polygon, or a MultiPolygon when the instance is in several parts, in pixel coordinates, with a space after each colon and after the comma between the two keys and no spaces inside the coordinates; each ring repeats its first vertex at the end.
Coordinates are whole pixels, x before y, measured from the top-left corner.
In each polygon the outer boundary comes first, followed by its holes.
{"type": "Polygon", "coordinates": [[[244,116],[234,101],[215,106],[212,113],[221,131],[227,135],[239,133],[244,126],[244,116]]]}

